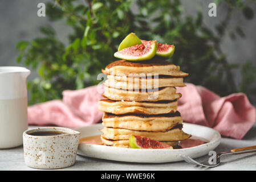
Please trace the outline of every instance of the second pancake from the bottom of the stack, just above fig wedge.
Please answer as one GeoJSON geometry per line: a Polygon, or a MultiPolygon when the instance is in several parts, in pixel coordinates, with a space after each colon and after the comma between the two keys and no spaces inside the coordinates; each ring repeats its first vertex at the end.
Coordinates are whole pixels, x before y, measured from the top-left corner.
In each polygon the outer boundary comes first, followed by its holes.
{"type": "Polygon", "coordinates": [[[152,132],[103,127],[100,131],[103,133],[104,138],[110,140],[128,140],[132,134],[157,141],[180,141],[191,137],[191,135],[184,133],[180,128],[173,128],[165,132],[152,132]]]}

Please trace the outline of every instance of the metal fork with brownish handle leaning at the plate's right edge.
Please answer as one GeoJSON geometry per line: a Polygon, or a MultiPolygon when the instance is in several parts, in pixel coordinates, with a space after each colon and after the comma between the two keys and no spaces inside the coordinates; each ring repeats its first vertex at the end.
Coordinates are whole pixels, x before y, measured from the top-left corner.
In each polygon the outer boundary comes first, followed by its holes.
{"type": "Polygon", "coordinates": [[[249,152],[256,152],[256,146],[249,146],[249,147],[241,147],[241,148],[234,148],[230,151],[227,152],[221,152],[219,154],[216,155],[216,163],[215,164],[209,164],[209,160],[205,160],[202,163],[197,162],[196,160],[190,158],[189,156],[186,155],[180,155],[182,159],[185,160],[185,162],[189,163],[189,164],[193,164],[196,166],[201,166],[201,167],[216,167],[221,163],[221,156],[222,155],[227,155],[227,154],[245,154],[245,153],[249,153],[249,152]]]}

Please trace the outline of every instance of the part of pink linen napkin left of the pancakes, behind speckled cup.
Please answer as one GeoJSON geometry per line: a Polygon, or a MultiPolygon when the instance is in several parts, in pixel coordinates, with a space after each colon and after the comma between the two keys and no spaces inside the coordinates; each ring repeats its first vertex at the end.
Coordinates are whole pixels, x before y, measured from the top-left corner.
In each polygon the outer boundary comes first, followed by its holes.
{"type": "MultiPolygon", "coordinates": [[[[102,85],[100,85],[102,87],[102,85]]],[[[65,90],[63,99],[32,105],[28,108],[29,125],[82,127],[100,121],[103,112],[97,102],[103,98],[97,86],[80,90],[65,90]]]]}

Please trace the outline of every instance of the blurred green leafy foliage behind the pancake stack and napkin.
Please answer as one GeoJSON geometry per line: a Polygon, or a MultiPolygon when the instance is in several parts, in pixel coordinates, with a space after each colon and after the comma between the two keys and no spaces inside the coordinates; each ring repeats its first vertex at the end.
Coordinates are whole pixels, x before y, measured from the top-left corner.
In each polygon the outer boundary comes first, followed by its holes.
{"type": "Polygon", "coordinates": [[[252,98],[256,93],[252,86],[256,68],[247,60],[243,60],[243,65],[229,64],[220,48],[225,34],[233,39],[245,36],[239,26],[229,32],[226,30],[234,10],[253,19],[254,12],[247,2],[216,1],[217,5],[227,5],[226,16],[216,26],[217,35],[202,23],[201,10],[196,18],[184,15],[180,0],[49,2],[46,16],[51,21],[66,20],[74,32],[68,36],[68,46],[56,38],[56,32],[50,26],[40,28],[43,37],[17,44],[18,63],[37,69],[39,74],[28,83],[29,104],[62,98],[62,91],[66,89],[97,84],[97,74],[116,60],[113,53],[130,32],[135,32],[141,39],[176,45],[170,61],[190,74],[185,78],[186,82],[204,85],[220,96],[244,92],[252,98]],[[139,8],[137,14],[131,10],[132,3],[139,8]],[[242,81],[237,88],[232,69],[238,68],[242,81]]]}

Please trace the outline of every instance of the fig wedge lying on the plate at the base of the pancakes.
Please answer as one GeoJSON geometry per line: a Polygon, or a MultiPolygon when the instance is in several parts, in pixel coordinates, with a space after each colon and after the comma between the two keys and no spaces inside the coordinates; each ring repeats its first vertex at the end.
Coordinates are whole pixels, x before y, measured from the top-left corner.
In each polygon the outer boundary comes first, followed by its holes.
{"type": "Polygon", "coordinates": [[[172,146],[168,144],[149,139],[147,137],[141,137],[137,135],[131,135],[129,138],[129,145],[131,148],[146,148],[146,149],[156,149],[156,148],[169,148],[173,149],[172,146]]]}

